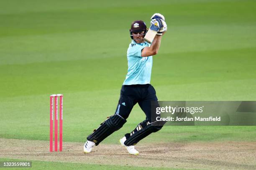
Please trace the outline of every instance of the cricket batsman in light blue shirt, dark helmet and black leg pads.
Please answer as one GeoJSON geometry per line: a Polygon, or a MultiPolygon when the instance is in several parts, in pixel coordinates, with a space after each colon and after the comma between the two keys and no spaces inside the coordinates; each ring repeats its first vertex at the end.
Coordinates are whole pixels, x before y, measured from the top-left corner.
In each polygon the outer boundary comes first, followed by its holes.
{"type": "Polygon", "coordinates": [[[93,146],[111,135],[116,130],[123,127],[132,108],[136,103],[146,114],[146,120],[140,122],[138,126],[124,135],[120,139],[121,145],[125,146],[130,154],[138,155],[139,152],[134,146],[151,133],[159,131],[163,126],[151,121],[151,101],[157,101],[156,91],[150,84],[151,69],[153,65],[153,55],[159,51],[162,35],[167,31],[165,18],[159,13],[151,17],[151,24],[159,27],[151,44],[144,41],[148,29],[142,20],[133,21],[130,35],[131,43],[127,50],[128,73],[123,82],[120,98],[115,114],[108,117],[87,137],[84,143],[84,153],[90,153],[93,146]]]}

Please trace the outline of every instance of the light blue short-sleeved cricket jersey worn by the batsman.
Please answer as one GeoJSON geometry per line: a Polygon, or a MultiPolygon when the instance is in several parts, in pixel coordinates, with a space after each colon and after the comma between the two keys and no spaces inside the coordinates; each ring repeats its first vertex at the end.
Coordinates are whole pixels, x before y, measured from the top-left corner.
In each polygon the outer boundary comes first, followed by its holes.
{"type": "Polygon", "coordinates": [[[137,44],[132,40],[127,50],[128,73],[123,85],[143,85],[149,84],[153,57],[141,57],[141,50],[150,47],[148,42],[137,44]]]}

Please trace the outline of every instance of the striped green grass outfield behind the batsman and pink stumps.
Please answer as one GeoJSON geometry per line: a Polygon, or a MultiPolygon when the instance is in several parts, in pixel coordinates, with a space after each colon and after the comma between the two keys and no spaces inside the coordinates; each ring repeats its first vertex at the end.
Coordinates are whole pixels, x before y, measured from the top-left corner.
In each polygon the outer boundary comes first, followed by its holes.
{"type": "MultiPolygon", "coordinates": [[[[151,76],[159,100],[256,100],[254,0],[5,0],[0,8],[0,138],[49,140],[49,95],[62,93],[63,139],[84,142],[115,112],[130,24],[139,19],[149,26],[156,12],[168,24],[151,76]]],[[[144,118],[134,107],[102,143],[117,144],[144,118]]],[[[255,136],[255,126],[168,126],[141,142],[255,136]]]]}

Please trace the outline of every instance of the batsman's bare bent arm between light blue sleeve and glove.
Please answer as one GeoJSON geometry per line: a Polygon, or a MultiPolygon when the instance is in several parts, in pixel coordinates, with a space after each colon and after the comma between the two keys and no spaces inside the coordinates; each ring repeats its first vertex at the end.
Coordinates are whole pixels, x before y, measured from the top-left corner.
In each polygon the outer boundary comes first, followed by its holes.
{"type": "MultiPolygon", "coordinates": [[[[165,32],[163,32],[164,35],[165,32]]],[[[162,36],[156,35],[154,38],[153,42],[151,43],[150,47],[144,47],[141,50],[141,57],[148,57],[151,55],[156,55],[157,52],[159,51],[160,45],[161,45],[161,38],[162,36]]]]}

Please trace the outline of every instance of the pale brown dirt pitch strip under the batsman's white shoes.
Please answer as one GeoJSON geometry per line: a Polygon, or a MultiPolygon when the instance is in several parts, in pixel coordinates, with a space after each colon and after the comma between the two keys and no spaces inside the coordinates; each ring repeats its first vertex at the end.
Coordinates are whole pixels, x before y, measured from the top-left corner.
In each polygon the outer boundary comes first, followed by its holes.
{"type": "Polygon", "coordinates": [[[110,144],[100,144],[84,154],[83,144],[64,142],[62,152],[50,153],[49,141],[0,138],[0,158],[203,170],[256,169],[256,142],[138,144],[140,155],[129,155],[123,146],[110,144]]]}

